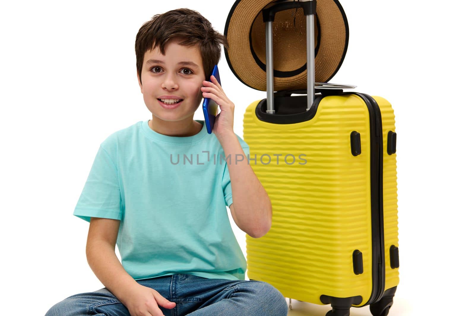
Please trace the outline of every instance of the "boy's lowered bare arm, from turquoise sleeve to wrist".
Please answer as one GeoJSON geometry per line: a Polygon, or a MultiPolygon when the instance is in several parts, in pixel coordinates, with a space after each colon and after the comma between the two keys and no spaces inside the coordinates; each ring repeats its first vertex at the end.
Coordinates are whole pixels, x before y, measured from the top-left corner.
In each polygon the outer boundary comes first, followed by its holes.
{"type": "Polygon", "coordinates": [[[97,279],[123,302],[127,290],[137,285],[115,255],[119,220],[91,217],[86,243],[87,263],[97,279]]]}

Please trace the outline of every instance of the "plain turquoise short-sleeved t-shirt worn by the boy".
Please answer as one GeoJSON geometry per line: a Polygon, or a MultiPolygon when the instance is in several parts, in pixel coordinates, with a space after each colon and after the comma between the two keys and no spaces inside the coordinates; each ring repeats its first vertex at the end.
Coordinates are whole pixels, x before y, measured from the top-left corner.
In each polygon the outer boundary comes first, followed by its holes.
{"type": "MultiPolygon", "coordinates": [[[[117,246],[133,279],[177,273],[244,280],[229,222],[228,164],[216,136],[166,136],[139,121],[99,146],[73,215],[120,220],[117,246]]],[[[236,134],[249,155],[249,146],[236,134]]],[[[231,158],[236,159],[234,155],[231,158]]]]}

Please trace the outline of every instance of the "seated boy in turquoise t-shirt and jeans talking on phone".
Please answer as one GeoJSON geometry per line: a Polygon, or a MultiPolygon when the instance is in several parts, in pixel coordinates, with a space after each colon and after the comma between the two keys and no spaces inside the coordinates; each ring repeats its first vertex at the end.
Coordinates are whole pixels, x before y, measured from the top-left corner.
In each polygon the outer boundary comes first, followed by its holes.
{"type": "Polygon", "coordinates": [[[246,259],[228,220],[226,205],[237,226],[259,238],[272,209],[243,159],[249,147],[233,131],[234,103],[216,78],[205,81],[220,44],[228,47],[190,9],[140,28],[137,78],[152,120],[101,143],[74,211],[90,222],[86,257],[105,287],[67,297],[47,316],[287,315],[276,288],[244,279],[246,259]],[[221,109],[211,135],[193,120],[203,97],[221,109]]]}

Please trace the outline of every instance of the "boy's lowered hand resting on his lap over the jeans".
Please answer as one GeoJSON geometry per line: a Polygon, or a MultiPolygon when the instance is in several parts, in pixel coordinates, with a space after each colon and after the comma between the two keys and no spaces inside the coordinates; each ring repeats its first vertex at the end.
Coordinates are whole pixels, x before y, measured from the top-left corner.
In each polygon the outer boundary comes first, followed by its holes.
{"type": "Polygon", "coordinates": [[[158,307],[173,308],[174,302],[170,302],[165,297],[162,297],[160,293],[153,288],[145,287],[141,284],[136,284],[133,288],[127,290],[125,293],[125,299],[121,302],[127,309],[131,316],[164,316],[161,309],[158,307]]]}

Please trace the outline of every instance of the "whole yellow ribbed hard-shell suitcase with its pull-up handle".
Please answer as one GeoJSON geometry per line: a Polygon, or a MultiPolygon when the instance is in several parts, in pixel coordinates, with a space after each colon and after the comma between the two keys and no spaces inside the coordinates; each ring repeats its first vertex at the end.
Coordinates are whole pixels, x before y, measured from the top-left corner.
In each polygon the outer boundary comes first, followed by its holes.
{"type": "MultiPolygon", "coordinates": [[[[279,6],[269,10],[275,13],[279,6]]],[[[314,73],[311,14],[309,74],[314,73]]],[[[399,284],[391,104],[365,93],[314,90],[313,79],[307,81],[307,95],[273,93],[272,14],[266,16],[271,17],[267,98],[247,107],[243,138],[273,217],[265,236],[246,235],[247,275],[290,299],[331,304],[327,315],[348,316],[350,307],[366,305],[374,316],[388,315],[399,284]]]]}

